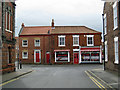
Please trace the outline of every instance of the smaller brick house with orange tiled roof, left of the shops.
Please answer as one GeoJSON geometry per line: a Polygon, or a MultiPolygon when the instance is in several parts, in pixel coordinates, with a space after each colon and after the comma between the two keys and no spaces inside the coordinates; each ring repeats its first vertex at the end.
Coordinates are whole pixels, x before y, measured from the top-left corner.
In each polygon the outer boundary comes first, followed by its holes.
{"type": "Polygon", "coordinates": [[[22,24],[19,34],[19,59],[22,63],[46,64],[50,52],[50,26],[26,27],[22,24]]]}

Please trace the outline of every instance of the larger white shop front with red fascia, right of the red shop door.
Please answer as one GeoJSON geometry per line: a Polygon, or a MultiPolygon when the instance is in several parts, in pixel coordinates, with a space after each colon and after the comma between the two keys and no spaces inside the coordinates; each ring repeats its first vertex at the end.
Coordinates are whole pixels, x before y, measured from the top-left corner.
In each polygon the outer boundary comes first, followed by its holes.
{"type": "Polygon", "coordinates": [[[102,51],[100,47],[82,47],[81,63],[102,63],[102,51]]]}

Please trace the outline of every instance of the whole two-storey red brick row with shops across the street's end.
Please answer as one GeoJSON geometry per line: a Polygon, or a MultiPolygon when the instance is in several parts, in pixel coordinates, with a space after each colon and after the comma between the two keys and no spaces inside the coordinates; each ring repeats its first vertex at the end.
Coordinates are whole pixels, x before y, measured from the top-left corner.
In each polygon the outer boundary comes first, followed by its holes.
{"type": "Polygon", "coordinates": [[[22,63],[102,63],[101,32],[85,26],[22,25],[19,58],[22,63]]]}

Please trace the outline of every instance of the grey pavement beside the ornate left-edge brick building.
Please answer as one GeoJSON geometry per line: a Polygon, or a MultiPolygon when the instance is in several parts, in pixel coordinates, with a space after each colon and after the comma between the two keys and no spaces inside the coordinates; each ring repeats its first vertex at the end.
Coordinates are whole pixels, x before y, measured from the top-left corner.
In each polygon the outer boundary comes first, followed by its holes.
{"type": "Polygon", "coordinates": [[[31,73],[32,71],[33,70],[32,70],[32,68],[30,68],[30,66],[23,65],[22,69],[17,69],[15,72],[0,75],[0,77],[2,77],[2,78],[0,78],[0,81],[2,81],[2,83],[4,83],[9,80],[12,80],[12,79],[18,78],[20,76],[26,75],[28,73],[31,73]]]}

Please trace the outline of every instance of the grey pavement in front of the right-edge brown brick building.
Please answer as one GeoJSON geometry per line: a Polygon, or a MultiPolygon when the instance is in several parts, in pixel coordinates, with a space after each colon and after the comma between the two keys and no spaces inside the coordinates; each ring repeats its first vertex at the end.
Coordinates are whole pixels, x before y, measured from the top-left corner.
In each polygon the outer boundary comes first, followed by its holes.
{"type": "Polygon", "coordinates": [[[87,72],[104,83],[108,88],[120,90],[120,75],[118,72],[103,70],[102,68],[87,70],[87,72]]]}

